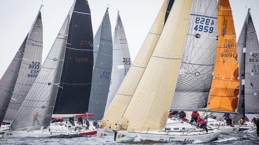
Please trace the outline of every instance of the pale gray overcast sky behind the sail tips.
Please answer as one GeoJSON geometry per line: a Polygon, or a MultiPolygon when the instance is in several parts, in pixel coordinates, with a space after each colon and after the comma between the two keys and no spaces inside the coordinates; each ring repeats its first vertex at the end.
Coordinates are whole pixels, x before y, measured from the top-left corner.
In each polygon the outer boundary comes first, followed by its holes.
{"type": "MultiPolygon", "coordinates": [[[[43,56],[45,60],[74,0],[44,0],[43,21],[43,56]]],[[[88,0],[92,13],[93,32],[97,31],[102,21],[107,4],[114,31],[117,9],[120,11],[129,51],[132,60],[136,57],[164,0],[88,0]]],[[[236,34],[243,26],[247,8],[251,10],[255,30],[259,33],[259,0],[230,0],[233,11],[236,34]]],[[[0,0],[0,76],[3,75],[22,41],[28,33],[41,0],[0,0]]],[[[259,35],[258,35],[259,36],[259,35]]]]}

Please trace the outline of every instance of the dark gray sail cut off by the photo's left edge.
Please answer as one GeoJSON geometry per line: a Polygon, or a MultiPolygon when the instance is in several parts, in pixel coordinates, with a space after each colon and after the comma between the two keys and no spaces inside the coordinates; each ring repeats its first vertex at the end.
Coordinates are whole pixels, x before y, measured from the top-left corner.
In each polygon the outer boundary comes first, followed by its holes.
{"type": "Polygon", "coordinates": [[[0,80],[0,127],[14,91],[15,83],[21,66],[21,60],[24,55],[27,37],[28,35],[25,37],[18,52],[15,54],[14,59],[9,64],[8,68],[6,69],[4,75],[0,80]]]}

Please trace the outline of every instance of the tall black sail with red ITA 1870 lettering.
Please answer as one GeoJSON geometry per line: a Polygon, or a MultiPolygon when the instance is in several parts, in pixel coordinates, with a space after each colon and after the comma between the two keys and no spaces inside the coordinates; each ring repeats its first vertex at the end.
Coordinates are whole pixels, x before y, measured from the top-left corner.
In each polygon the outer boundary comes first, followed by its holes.
{"type": "Polygon", "coordinates": [[[93,72],[93,30],[87,0],[75,1],[53,114],[81,114],[88,108],[93,72]]]}

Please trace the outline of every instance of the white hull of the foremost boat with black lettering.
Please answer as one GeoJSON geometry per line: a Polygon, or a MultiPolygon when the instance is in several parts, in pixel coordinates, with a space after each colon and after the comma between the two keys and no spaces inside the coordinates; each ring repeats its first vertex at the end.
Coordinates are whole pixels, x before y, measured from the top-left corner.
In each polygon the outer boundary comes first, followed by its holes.
{"type": "Polygon", "coordinates": [[[123,132],[118,131],[114,133],[115,142],[134,141],[135,138],[141,138],[141,140],[151,141],[183,141],[187,143],[195,143],[197,141],[208,142],[219,137],[220,131],[207,134],[195,134],[195,135],[170,135],[170,134],[151,134],[151,133],[139,133],[139,132],[123,132]]]}

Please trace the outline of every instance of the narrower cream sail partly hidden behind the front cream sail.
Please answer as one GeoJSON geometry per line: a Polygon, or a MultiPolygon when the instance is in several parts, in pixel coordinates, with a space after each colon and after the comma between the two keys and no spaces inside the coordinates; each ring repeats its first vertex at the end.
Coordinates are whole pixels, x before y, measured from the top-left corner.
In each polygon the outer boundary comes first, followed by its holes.
{"type": "Polygon", "coordinates": [[[110,127],[111,129],[116,129],[115,122],[118,122],[122,118],[164,28],[166,6],[167,0],[164,1],[140,51],[112,100],[111,105],[104,114],[100,124],[101,128],[110,127]]]}

